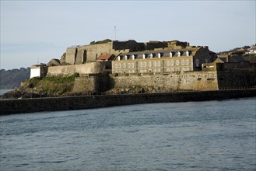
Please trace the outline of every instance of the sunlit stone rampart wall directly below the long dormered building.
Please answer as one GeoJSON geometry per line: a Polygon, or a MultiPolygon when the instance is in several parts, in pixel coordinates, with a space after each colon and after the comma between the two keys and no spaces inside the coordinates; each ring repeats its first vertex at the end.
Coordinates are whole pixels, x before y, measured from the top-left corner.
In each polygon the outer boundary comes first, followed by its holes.
{"type": "Polygon", "coordinates": [[[115,89],[132,89],[135,86],[160,89],[162,92],[177,90],[217,90],[216,72],[184,72],[169,75],[111,75],[115,89]]]}

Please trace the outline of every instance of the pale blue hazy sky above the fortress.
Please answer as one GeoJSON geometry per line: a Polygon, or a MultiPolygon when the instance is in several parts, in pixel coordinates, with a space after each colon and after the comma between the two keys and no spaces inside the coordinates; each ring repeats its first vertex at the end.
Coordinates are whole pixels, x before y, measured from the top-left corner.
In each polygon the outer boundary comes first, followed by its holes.
{"type": "Polygon", "coordinates": [[[47,64],[67,47],[115,37],[187,41],[215,52],[256,42],[255,0],[0,2],[5,70],[47,64]]]}

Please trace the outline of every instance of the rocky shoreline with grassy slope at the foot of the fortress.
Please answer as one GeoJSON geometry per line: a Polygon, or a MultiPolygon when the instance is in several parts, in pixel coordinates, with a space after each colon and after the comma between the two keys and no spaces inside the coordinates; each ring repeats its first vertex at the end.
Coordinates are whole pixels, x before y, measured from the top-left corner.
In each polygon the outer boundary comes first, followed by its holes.
{"type": "Polygon", "coordinates": [[[154,86],[129,86],[126,88],[112,88],[106,91],[81,91],[75,87],[75,78],[70,77],[45,77],[27,79],[22,82],[22,86],[10,92],[6,92],[0,99],[30,99],[44,97],[62,96],[91,96],[91,95],[120,95],[120,94],[140,94],[140,93],[165,93],[180,92],[174,90],[161,89],[154,86]],[[71,78],[71,79],[70,79],[71,78]],[[61,80],[61,81],[60,81],[61,80]]]}

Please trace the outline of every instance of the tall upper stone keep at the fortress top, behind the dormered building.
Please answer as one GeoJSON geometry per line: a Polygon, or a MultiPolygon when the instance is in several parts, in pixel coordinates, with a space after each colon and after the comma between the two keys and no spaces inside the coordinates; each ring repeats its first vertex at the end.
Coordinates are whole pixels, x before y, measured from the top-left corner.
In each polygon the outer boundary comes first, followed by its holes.
{"type": "Polygon", "coordinates": [[[138,43],[135,40],[111,41],[102,40],[93,44],[68,47],[65,56],[62,56],[61,63],[68,65],[79,65],[86,62],[96,61],[101,55],[114,54],[117,56],[122,53],[134,51],[154,51],[156,49],[172,48],[181,49],[188,46],[187,42],[174,41],[149,41],[138,43]],[[65,61],[63,61],[65,59],[65,61]]]}

